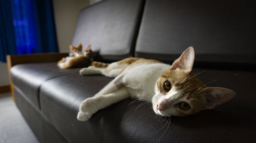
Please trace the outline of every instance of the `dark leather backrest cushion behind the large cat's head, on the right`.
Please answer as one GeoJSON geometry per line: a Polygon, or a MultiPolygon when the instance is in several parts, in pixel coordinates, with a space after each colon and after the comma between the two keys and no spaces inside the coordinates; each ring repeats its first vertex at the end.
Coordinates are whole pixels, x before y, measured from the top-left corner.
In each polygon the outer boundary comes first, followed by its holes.
{"type": "Polygon", "coordinates": [[[148,0],[135,56],[172,63],[189,46],[195,63],[256,65],[256,1],[148,0]]]}

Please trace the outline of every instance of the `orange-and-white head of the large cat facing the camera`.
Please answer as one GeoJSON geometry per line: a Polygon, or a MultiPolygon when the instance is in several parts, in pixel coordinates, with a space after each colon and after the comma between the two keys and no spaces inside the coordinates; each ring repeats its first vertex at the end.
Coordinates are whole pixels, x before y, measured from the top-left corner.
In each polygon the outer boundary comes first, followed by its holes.
{"type": "Polygon", "coordinates": [[[158,79],[152,99],[153,109],[158,115],[193,115],[227,102],[236,94],[225,88],[206,87],[191,73],[194,59],[194,48],[188,47],[158,79]]]}

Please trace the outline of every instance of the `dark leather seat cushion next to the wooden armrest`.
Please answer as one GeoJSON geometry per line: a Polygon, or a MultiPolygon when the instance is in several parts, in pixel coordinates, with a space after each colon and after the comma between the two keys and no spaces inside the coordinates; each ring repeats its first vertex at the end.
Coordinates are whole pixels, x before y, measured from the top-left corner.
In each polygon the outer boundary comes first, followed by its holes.
{"type": "Polygon", "coordinates": [[[12,82],[39,108],[39,89],[45,81],[71,73],[79,69],[59,69],[57,63],[20,64],[11,68],[12,82]]]}

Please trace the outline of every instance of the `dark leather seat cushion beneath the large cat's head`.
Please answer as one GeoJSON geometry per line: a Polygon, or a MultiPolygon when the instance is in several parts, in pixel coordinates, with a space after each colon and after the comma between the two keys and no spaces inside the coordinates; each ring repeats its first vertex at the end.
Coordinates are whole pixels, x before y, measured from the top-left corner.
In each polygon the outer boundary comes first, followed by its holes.
{"type": "Polygon", "coordinates": [[[225,87],[237,95],[212,110],[188,117],[156,116],[151,105],[126,99],[76,119],[80,103],[95,95],[111,78],[70,74],[46,81],[40,89],[41,111],[69,142],[254,142],[255,72],[195,69],[209,86],[225,87]],[[129,105],[130,104],[130,105],[129,105]]]}

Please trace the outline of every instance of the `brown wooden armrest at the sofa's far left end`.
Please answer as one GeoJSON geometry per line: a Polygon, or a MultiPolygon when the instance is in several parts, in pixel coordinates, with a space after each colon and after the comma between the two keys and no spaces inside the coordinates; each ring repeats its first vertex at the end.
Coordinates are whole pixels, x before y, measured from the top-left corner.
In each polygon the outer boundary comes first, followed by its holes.
{"type": "Polygon", "coordinates": [[[23,55],[7,55],[6,61],[8,66],[10,88],[12,93],[12,98],[15,101],[13,83],[11,78],[11,68],[18,64],[25,63],[45,63],[45,62],[57,62],[61,58],[68,56],[69,53],[36,53],[36,54],[23,54],[23,55]]]}

